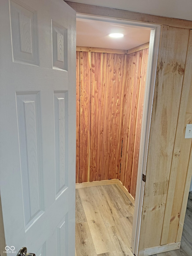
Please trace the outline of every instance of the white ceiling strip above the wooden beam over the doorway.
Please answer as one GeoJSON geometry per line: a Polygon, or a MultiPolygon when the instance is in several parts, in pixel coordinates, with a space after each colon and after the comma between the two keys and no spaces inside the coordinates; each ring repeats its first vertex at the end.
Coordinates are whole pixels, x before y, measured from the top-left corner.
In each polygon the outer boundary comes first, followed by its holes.
{"type": "Polygon", "coordinates": [[[120,10],[192,20],[192,0],[67,0],[120,10]]]}

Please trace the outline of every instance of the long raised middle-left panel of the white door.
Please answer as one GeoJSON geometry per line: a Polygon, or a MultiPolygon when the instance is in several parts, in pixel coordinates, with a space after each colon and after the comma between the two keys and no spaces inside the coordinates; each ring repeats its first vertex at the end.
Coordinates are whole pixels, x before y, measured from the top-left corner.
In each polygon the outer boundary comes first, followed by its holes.
{"type": "Polygon", "coordinates": [[[44,213],[39,93],[16,94],[25,230],[44,213]]]}

